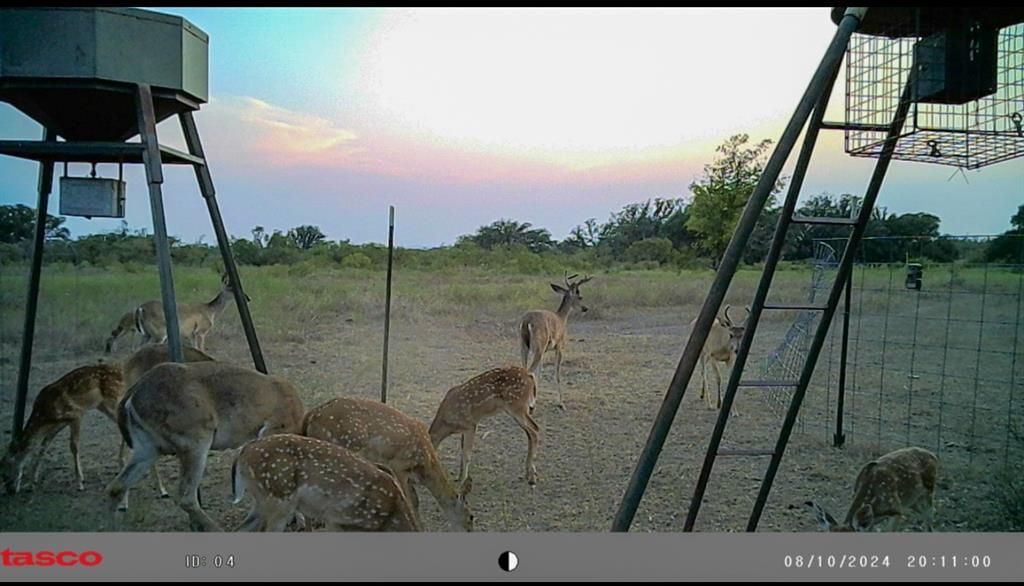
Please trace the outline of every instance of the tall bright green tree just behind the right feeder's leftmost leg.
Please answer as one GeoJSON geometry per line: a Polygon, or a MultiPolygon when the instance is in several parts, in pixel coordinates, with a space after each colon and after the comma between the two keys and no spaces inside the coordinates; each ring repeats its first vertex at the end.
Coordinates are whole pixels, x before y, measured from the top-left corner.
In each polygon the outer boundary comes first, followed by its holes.
{"type": "MultiPolygon", "coordinates": [[[[716,149],[715,161],[705,165],[703,176],[690,184],[693,203],[689,206],[686,227],[700,237],[700,247],[712,256],[716,267],[743,206],[761,178],[772,143],[766,139],[748,145],[749,141],[746,134],[730,136],[716,149]]],[[[765,212],[775,207],[775,195],[784,184],[785,179],[779,177],[772,185],[765,212]]]]}

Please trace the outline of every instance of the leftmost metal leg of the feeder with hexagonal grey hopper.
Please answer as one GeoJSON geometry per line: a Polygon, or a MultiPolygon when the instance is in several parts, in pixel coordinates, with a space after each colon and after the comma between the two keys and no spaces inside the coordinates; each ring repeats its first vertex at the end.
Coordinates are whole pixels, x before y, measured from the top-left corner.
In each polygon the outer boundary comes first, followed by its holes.
{"type": "MultiPolygon", "coordinates": [[[[57,133],[43,128],[43,140],[55,142],[57,133]]],[[[22,334],[22,362],[17,368],[14,394],[14,421],[11,442],[20,442],[25,425],[25,404],[29,395],[29,375],[32,371],[32,345],[36,338],[36,308],[39,303],[39,279],[43,267],[43,247],[46,243],[46,209],[53,190],[53,161],[39,163],[39,199],[36,201],[36,234],[32,241],[32,268],[29,273],[29,295],[25,302],[25,329],[22,334]]]]}

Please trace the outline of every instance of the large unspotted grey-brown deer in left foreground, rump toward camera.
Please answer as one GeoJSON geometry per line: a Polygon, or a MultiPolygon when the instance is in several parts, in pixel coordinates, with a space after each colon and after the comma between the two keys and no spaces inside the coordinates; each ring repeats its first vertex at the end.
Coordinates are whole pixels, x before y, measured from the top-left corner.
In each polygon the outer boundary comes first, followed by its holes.
{"type": "Polygon", "coordinates": [[[290,382],[224,363],[162,364],[126,394],[118,406],[118,426],[132,456],[106,489],[110,508],[116,510],[157,458],[176,456],[178,504],[194,530],[220,530],[199,502],[210,450],[302,428],[302,403],[290,382]]]}

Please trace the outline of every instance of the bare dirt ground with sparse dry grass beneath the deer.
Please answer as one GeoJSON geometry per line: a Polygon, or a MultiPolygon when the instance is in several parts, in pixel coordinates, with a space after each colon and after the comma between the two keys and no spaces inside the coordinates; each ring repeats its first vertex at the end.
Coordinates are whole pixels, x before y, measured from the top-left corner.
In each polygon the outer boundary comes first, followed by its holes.
{"type": "MultiPolygon", "coordinates": [[[[515,423],[497,416],[485,420],[477,435],[472,463],[470,504],[476,529],[486,532],[605,532],[628,484],[674,372],[697,305],[645,308],[629,315],[591,311],[570,319],[570,343],[562,366],[567,409],[555,406],[554,369],[545,362],[540,401],[535,415],[541,425],[538,457],[540,482],[524,479],[525,434],[515,423]]],[[[233,309],[231,309],[233,311],[233,309]]],[[[259,322],[257,322],[257,326],[259,322]]],[[[771,347],[787,324],[763,323],[764,347],[771,347]]],[[[389,404],[429,423],[445,390],[488,368],[515,364],[518,348],[515,316],[477,319],[468,325],[420,317],[392,323],[389,404]]],[[[759,335],[759,337],[761,336],[759,335]]],[[[301,336],[264,343],[271,372],[293,380],[307,408],[334,396],[378,397],[381,327],[377,317],[348,318],[304,324],[301,336]]],[[[251,364],[237,316],[218,325],[208,339],[208,351],[218,360],[251,364]]],[[[124,360],[128,344],[113,360],[124,360]]],[[[45,352],[43,352],[45,353],[45,352]]],[[[763,353],[761,355],[764,355],[763,353]]],[[[761,355],[752,357],[760,360],[761,355]]],[[[4,369],[16,368],[16,354],[4,357],[4,369]]],[[[38,359],[33,381],[51,381],[99,358],[61,355],[38,359]]],[[[110,359],[109,359],[110,360],[110,359]]],[[[13,380],[13,377],[7,377],[13,380]]],[[[38,390],[34,384],[32,392],[38,390]]],[[[743,392],[743,391],[741,391],[743,392]]],[[[780,418],[767,409],[756,390],[737,399],[740,415],[726,430],[723,446],[767,448],[774,444],[780,418]]],[[[12,393],[4,393],[0,420],[11,417],[12,393]]],[[[31,397],[30,397],[31,399],[31,397]]],[[[695,376],[683,401],[672,433],[637,512],[633,531],[681,531],[690,496],[703,459],[716,412],[699,401],[695,376]]],[[[4,429],[0,437],[9,441],[4,429]]],[[[118,472],[119,435],[98,412],[86,418],[83,462],[86,490],[74,487],[71,457],[63,439],[51,447],[40,485],[9,497],[0,496],[2,531],[110,531],[103,489],[118,472]]],[[[458,469],[458,438],[439,449],[452,474],[458,469]]],[[[238,526],[245,505],[230,502],[229,468],[233,452],[211,455],[203,482],[205,508],[223,527],[238,526]]],[[[860,466],[876,456],[866,445],[833,448],[821,433],[795,434],[776,478],[760,531],[816,531],[805,509],[790,505],[814,499],[841,517],[852,495],[860,466]]],[[[759,480],[764,457],[720,458],[708,487],[696,529],[703,532],[742,531],[759,480]]],[[[160,463],[174,492],[177,464],[160,463]]],[[[972,498],[978,487],[958,479],[938,491],[939,531],[971,531],[988,503],[972,498]]],[[[428,531],[446,531],[433,499],[422,489],[421,507],[428,531]]],[[[133,492],[131,510],[123,519],[128,531],[187,531],[185,514],[173,500],[159,500],[147,479],[133,492]]]]}

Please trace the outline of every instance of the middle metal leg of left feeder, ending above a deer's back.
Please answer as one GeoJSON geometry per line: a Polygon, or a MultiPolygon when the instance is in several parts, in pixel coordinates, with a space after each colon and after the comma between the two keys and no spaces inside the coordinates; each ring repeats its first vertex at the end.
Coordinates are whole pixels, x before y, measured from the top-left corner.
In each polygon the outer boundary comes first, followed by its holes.
{"type": "Polygon", "coordinates": [[[174,277],[171,274],[171,246],[167,240],[167,223],[164,218],[164,197],[161,183],[164,182],[163,162],[160,143],[157,141],[157,115],[153,108],[153,90],[148,84],[138,84],[135,94],[138,115],[138,132],[145,146],[142,151],[142,166],[150,185],[150,207],[153,212],[153,240],[157,249],[157,267],[160,270],[160,294],[164,301],[164,320],[167,328],[167,346],[171,360],[183,363],[181,334],[178,324],[178,306],[174,300],[174,277]]]}

